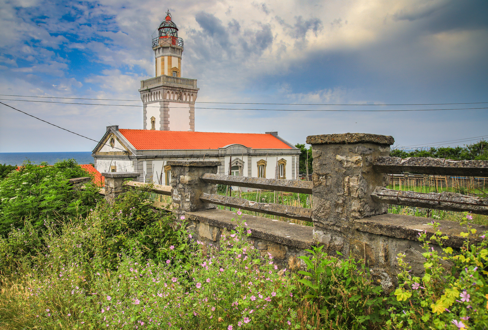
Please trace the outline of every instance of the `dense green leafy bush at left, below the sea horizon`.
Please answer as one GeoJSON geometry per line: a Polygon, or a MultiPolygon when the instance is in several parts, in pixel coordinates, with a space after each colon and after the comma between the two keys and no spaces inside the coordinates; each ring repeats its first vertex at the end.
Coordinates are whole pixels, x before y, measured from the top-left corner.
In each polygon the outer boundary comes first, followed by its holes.
{"type": "Polygon", "coordinates": [[[40,229],[47,222],[86,216],[100,199],[99,188],[86,184],[84,190],[73,189],[68,179],[88,176],[75,160],[53,166],[24,162],[19,171],[12,171],[0,181],[0,236],[23,228],[26,221],[40,229]]]}

